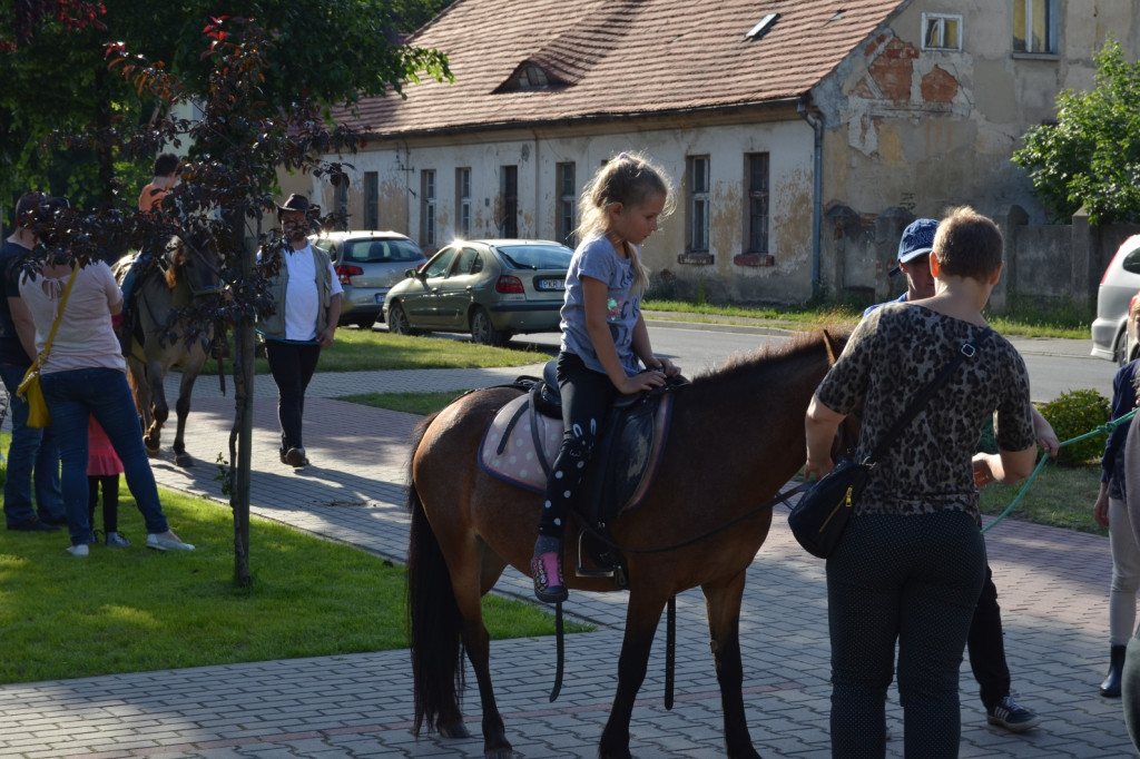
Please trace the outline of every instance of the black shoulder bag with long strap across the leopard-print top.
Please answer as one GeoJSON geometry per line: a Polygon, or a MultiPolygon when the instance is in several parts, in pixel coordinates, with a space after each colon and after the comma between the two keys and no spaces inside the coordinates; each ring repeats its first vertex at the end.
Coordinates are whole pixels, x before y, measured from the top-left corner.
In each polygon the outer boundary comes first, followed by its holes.
{"type": "Polygon", "coordinates": [[[922,407],[929,403],[934,394],[946,384],[959,365],[966,359],[972,358],[991,334],[993,334],[993,329],[986,329],[976,342],[962,345],[962,350],[946,365],[942,374],[915,395],[906,411],[898,417],[898,421],[879,441],[871,455],[863,459],[863,463],[857,464],[848,458],[840,458],[831,472],[800,496],[799,503],[788,515],[788,525],[804,550],[820,558],[828,558],[834,553],[839,539],[847,528],[847,521],[854,511],[853,507],[858,503],[858,497],[863,492],[863,488],[866,487],[871,472],[874,471],[883,454],[895,443],[895,440],[922,410],[922,407]]]}

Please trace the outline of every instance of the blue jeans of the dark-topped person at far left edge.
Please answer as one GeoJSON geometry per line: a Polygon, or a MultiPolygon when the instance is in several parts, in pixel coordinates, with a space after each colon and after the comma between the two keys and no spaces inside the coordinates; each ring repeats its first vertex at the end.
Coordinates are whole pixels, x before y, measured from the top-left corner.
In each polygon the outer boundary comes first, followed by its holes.
{"type": "Polygon", "coordinates": [[[11,414],[8,480],[3,485],[3,514],[8,527],[26,522],[36,511],[44,521],[57,520],[64,514],[56,433],[51,427],[27,426],[27,403],[16,397],[16,387],[25,372],[26,366],[0,364],[0,379],[8,390],[8,411],[11,414]],[[35,511],[32,509],[33,473],[35,511]]]}

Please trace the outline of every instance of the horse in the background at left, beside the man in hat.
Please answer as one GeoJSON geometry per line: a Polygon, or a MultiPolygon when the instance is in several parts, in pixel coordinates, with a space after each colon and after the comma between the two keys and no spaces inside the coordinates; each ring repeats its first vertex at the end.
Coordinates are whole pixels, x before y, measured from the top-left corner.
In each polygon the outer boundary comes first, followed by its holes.
{"type": "MultiPolygon", "coordinates": [[[[157,456],[162,427],[170,415],[164,379],[173,368],[181,369],[174,411],[174,463],[190,466],[194,458],[184,442],[190,394],[202,372],[213,338],[211,323],[197,323],[188,313],[203,297],[219,292],[218,256],[210,245],[195,245],[180,237],[171,238],[155,262],[138,275],[130,308],[135,332],[127,366],[130,369],[135,402],[142,417],[144,442],[149,456],[157,456]]],[[[131,268],[133,256],[114,267],[120,284],[131,268]]]]}

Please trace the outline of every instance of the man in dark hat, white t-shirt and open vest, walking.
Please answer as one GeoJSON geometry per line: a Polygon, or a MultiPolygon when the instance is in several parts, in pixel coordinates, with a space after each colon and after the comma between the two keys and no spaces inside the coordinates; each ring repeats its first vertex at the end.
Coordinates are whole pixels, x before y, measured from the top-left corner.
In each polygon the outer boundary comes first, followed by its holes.
{"type": "Polygon", "coordinates": [[[343,292],[328,254],[309,245],[310,210],[309,198],[290,195],[277,206],[285,245],[261,253],[262,260],[280,256],[269,279],[274,312],[259,320],[258,332],[266,338],[266,359],[277,383],[280,459],[293,467],[309,463],[301,436],[304,391],[320,349],[333,344],[343,292]]]}

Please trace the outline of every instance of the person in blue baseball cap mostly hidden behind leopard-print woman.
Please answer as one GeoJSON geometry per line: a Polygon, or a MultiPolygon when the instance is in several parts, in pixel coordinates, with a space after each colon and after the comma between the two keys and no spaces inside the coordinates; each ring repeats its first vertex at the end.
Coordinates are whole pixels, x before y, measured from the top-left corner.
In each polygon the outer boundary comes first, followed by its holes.
{"type": "MultiPolygon", "coordinates": [[[[934,248],[936,231],[938,222],[934,219],[915,219],[903,230],[903,237],[898,242],[898,266],[891,269],[890,276],[903,271],[906,275],[906,292],[888,302],[909,303],[934,296],[936,288],[934,275],[930,274],[930,251],[934,248]]],[[[886,303],[876,303],[863,311],[863,316],[866,317],[880,305],[886,303]]],[[[1056,456],[1060,449],[1060,441],[1049,422],[1035,408],[1033,429],[1045,452],[1056,456]]],[[[1000,725],[1011,733],[1024,733],[1039,725],[1041,718],[1017,703],[1010,693],[1001,607],[997,605],[997,587],[994,585],[988,562],[986,562],[986,579],[982,586],[982,596],[974,611],[966,646],[970,655],[974,679],[980,686],[986,721],[1000,725]]]]}

